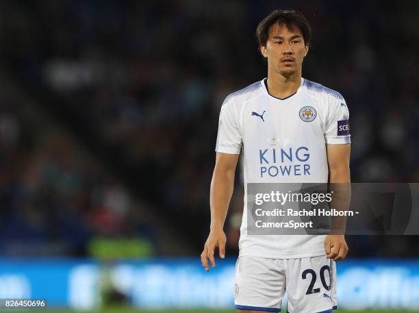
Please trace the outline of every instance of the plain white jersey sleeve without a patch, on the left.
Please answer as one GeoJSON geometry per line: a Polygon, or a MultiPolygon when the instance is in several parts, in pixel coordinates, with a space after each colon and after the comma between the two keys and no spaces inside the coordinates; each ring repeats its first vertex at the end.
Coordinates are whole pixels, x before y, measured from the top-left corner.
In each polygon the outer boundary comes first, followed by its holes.
{"type": "Polygon", "coordinates": [[[240,154],[242,134],[239,127],[239,116],[236,112],[233,97],[227,97],[221,106],[218,120],[216,151],[229,154],[240,154]]]}

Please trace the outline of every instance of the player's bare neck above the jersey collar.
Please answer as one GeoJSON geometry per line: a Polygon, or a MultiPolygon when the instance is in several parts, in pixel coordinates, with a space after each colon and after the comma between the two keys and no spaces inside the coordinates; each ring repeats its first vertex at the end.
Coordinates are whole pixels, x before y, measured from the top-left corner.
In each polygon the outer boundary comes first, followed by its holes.
{"type": "Polygon", "coordinates": [[[293,95],[301,86],[301,73],[284,77],[268,71],[268,92],[270,95],[284,99],[293,95]]]}

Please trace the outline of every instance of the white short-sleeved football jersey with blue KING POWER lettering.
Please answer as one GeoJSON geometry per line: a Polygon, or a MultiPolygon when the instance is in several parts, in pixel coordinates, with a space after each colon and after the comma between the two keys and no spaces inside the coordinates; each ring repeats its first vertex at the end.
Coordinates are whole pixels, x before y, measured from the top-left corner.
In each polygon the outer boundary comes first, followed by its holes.
{"type": "Polygon", "coordinates": [[[244,213],[240,255],[325,255],[325,235],[247,234],[248,183],[327,183],[326,144],[351,142],[349,112],[339,92],[301,79],[293,95],[269,95],[266,79],[233,92],[220,112],[216,151],[243,151],[244,213]]]}

